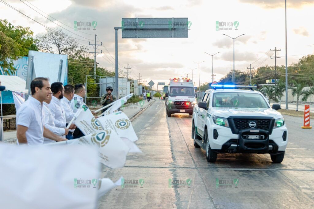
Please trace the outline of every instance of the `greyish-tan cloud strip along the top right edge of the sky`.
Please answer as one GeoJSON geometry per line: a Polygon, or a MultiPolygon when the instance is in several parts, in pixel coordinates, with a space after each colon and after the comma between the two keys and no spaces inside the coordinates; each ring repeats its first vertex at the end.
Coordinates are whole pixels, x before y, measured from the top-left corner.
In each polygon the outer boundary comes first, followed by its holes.
{"type": "MultiPolygon", "coordinates": [[[[278,7],[284,8],[283,0],[240,0],[240,2],[257,4],[263,8],[268,8],[268,9],[278,8],[278,7]]],[[[314,0],[289,0],[287,1],[287,7],[300,8],[307,4],[313,4],[313,3],[314,3],[314,0]]]]}

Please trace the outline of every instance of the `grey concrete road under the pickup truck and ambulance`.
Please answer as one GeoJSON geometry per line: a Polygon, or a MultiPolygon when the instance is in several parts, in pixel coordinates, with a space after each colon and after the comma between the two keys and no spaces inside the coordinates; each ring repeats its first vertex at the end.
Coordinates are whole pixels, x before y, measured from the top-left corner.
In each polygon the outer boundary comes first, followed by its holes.
{"type": "Polygon", "coordinates": [[[99,208],[314,207],[314,129],[301,129],[303,118],[284,116],[289,144],[281,164],[269,154],[219,154],[208,163],[193,146],[192,117],[168,118],[164,104],[157,100],[132,122],[143,153],[129,154],[122,169],[102,167],[101,177],[123,176],[129,185],[100,198],[99,208]]]}

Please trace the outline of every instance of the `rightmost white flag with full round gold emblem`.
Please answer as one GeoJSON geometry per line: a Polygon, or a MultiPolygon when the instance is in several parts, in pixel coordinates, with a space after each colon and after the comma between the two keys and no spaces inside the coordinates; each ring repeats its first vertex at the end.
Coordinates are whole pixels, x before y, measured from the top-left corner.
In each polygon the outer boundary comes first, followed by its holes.
{"type": "Polygon", "coordinates": [[[138,140],[130,119],[122,111],[99,117],[97,120],[103,129],[109,128],[115,131],[119,137],[128,138],[132,142],[138,140]]]}

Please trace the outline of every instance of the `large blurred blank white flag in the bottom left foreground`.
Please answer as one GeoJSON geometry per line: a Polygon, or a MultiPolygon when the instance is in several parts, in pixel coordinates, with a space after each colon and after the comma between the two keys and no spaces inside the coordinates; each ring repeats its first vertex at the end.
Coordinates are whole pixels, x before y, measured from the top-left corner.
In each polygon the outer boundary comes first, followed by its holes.
{"type": "Polygon", "coordinates": [[[1,208],[96,208],[99,163],[89,146],[0,143],[1,208]]]}

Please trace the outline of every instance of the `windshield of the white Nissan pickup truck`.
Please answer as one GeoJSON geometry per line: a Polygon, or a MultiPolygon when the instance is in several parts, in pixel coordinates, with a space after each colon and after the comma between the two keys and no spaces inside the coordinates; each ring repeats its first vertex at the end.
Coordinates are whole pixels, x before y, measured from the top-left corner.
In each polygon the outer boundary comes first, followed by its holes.
{"type": "Polygon", "coordinates": [[[260,94],[221,92],[214,93],[213,107],[217,108],[269,108],[260,94]]]}

